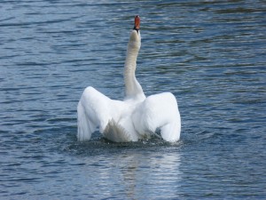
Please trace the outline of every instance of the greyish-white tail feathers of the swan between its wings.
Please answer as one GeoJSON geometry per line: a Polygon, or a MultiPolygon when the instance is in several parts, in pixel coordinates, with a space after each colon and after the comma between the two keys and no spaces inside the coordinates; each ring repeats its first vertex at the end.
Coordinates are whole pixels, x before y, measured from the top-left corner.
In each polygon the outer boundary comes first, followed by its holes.
{"type": "Polygon", "coordinates": [[[113,119],[106,125],[104,136],[107,140],[114,142],[132,141],[129,133],[120,124],[114,122],[113,119]]]}

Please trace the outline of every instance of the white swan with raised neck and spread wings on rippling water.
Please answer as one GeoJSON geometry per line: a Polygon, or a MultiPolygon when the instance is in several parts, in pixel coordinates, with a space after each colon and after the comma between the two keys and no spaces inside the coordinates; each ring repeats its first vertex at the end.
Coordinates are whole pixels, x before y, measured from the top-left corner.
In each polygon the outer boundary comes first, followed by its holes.
{"type": "Polygon", "coordinates": [[[77,139],[90,140],[98,128],[107,140],[113,142],[137,141],[150,138],[160,129],[163,140],[176,142],[180,138],[181,118],[176,97],[162,92],[145,97],[137,82],[135,71],[141,45],[140,17],[129,36],[124,65],[124,100],[111,100],[89,86],[82,92],[77,106],[77,139]]]}

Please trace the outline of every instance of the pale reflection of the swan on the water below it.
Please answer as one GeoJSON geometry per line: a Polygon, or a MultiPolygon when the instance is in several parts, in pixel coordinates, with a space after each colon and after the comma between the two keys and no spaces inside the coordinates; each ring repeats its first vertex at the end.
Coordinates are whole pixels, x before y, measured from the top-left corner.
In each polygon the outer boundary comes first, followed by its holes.
{"type": "Polygon", "coordinates": [[[93,185],[89,188],[95,192],[95,196],[126,194],[129,199],[140,199],[145,194],[145,198],[150,199],[174,198],[178,193],[181,161],[176,152],[150,153],[137,150],[98,156],[92,160],[90,157],[84,161],[84,170],[86,174],[90,174],[88,179],[93,185]]]}

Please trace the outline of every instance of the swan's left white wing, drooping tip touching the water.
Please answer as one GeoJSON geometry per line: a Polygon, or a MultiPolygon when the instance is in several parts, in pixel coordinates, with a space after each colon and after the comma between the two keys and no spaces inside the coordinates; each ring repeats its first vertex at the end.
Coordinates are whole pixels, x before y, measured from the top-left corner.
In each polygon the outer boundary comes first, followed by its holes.
{"type": "Polygon", "coordinates": [[[93,87],[84,90],[77,107],[78,140],[90,140],[91,133],[95,132],[97,127],[100,132],[104,132],[106,124],[111,120],[111,101],[93,87]]]}

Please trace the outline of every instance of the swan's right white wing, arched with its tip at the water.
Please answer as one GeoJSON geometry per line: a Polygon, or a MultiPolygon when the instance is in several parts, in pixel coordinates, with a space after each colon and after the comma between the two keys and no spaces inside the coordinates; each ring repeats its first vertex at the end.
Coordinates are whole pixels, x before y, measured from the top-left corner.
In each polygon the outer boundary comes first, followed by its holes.
{"type": "Polygon", "coordinates": [[[132,120],[139,134],[160,128],[163,140],[175,142],[180,138],[181,118],[176,97],[170,92],[147,97],[133,113],[132,120]]]}

